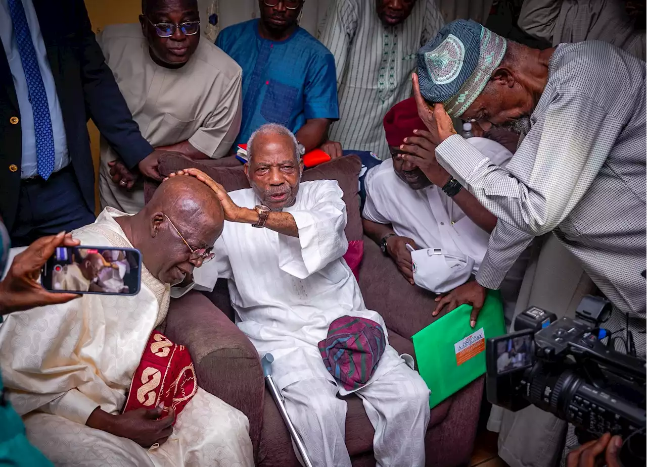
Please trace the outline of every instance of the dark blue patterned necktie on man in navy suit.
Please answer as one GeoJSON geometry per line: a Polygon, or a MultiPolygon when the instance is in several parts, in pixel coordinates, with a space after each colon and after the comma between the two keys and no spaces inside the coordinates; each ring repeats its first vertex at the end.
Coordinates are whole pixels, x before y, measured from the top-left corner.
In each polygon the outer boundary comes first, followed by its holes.
{"type": "Polygon", "coordinates": [[[38,67],[36,49],[29,32],[25,8],[21,0],[7,0],[11,12],[11,21],[14,24],[14,34],[18,43],[20,59],[23,63],[27,87],[29,88],[29,101],[34,110],[34,129],[36,130],[36,156],[38,158],[38,174],[47,180],[54,172],[54,133],[52,132],[52,118],[49,115],[47,92],[43,84],[43,77],[38,67]]]}

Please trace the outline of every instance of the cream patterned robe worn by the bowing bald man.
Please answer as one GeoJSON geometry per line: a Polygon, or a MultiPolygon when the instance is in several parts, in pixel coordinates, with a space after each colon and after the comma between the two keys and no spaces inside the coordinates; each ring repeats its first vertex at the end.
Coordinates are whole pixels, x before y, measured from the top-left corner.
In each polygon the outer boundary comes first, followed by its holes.
{"type": "MultiPolygon", "coordinates": [[[[107,208],[74,231],[81,244],[132,247],[107,208]]],[[[198,389],[173,435],[146,450],[85,426],[100,406],[119,413],[153,329],[168,311],[170,287],[142,265],[137,296],[83,295],[64,305],[13,313],[0,326],[6,395],[27,436],[57,466],[253,466],[247,417],[198,389]]]]}

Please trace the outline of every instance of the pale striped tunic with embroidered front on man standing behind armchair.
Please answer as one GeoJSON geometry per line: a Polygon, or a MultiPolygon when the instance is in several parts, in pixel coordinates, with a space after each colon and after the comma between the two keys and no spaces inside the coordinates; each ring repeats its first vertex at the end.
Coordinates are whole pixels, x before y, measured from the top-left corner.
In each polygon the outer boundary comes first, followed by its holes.
{"type": "Polygon", "coordinates": [[[434,0],[419,0],[395,27],[382,25],[373,0],[331,0],[319,36],[337,68],[340,119],[331,126],[331,140],[381,160],[391,157],[382,120],[411,96],[415,54],[443,25],[434,0]]]}

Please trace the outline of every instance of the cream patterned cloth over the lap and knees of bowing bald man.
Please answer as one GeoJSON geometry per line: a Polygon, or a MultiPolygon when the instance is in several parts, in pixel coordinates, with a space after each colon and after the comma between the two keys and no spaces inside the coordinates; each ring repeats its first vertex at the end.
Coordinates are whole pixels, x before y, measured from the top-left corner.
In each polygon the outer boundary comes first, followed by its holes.
{"type": "Polygon", "coordinates": [[[29,441],[57,467],[252,467],[245,414],[198,389],[178,415],[173,434],[157,448],[49,413],[30,413],[29,441]]]}

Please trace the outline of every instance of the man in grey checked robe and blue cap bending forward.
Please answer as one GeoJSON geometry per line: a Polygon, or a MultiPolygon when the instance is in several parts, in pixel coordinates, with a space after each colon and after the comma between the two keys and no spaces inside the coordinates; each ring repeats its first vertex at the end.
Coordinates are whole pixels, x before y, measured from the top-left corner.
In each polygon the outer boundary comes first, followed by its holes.
{"type": "MultiPolygon", "coordinates": [[[[552,231],[615,305],[605,327],[627,319],[637,353],[647,353],[646,77],[646,62],[607,43],[535,50],[473,21],[450,23],[419,50],[414,94],[437,162],[498,217],[476,281],[439,307],[473,304],[476,318],[486,289],[552,231]],[[516,129],[523,140],[498,167],[456,134],[450,115],[516,129]]],[[[615,347],[624,351],[620,340],[615,347]]],[[[538,429],[516,426],[518,457],[499,455],[512,467],[549,464],[532,449],[546,434],[538,429]]]]}

